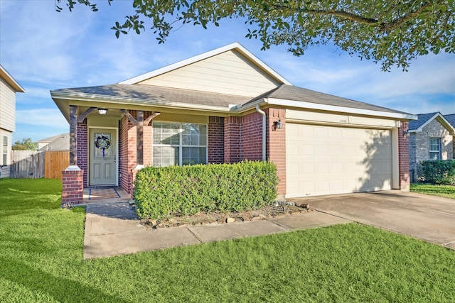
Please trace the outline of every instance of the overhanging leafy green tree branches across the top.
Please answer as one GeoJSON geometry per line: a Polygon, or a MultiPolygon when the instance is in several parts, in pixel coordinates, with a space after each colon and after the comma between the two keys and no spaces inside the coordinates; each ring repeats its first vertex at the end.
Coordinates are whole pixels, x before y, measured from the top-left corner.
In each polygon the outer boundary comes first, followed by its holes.
{"type": "MultiPolygon", "coordinates": [[[[72,10],[76,1],[67,1],[72,10]]],[[[380,62],[382,70],[406,70],[420,55],[455,52],[454,1],[134,0],[135,12],[112,29],[119,38],[128,31],[139,34],[149,24],[158,43],[164,43],[183,24],[207,28],[223,18],[241,18],[249,26],[246,37],[261,40],[262,50],[288,45],[299,56],[309,46],[333,43],[350,55],[380,62]]],[[[94,0],[77,2],[97,10],[94,0]]]]}

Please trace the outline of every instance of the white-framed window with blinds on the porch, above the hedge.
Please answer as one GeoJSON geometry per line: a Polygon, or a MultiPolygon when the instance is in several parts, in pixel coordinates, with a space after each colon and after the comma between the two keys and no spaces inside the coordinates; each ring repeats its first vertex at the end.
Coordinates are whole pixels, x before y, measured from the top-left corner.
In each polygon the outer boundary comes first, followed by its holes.
{"type": "Polygon", "coordinates": [[[153,123],[153,165],[207,163],[207,126],[194,123],[153,123]]]}

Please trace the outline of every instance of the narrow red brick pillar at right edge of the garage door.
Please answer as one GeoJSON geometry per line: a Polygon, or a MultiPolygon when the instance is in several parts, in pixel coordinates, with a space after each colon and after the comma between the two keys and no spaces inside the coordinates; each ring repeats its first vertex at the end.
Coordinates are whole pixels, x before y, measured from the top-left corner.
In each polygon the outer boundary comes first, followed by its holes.
{"type": "Polygon", "coordinates": [[[400,175],[400,189],[405,192],[410,190],[410,139],[405,136],[408,122],[401,121],[398,128],[398,172],[400,175]]]}

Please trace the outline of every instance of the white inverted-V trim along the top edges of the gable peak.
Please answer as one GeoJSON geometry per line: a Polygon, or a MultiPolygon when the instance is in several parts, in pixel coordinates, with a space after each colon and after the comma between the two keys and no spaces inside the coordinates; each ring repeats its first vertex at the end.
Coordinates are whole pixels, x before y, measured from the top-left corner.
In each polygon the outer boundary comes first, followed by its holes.
{"type": "Polygon", "coordinates": [[[217,48],[216,50],[210,50],[207,53],[203,53],[201,55],[197,55],[197,56],[191,57],[189,59],[186,59],[186,60],[183,60],[180,62],[176,62],[174,64],[162,67],[158,70],[147,72],[146,74],[139,75],[139,76],[131,78],[131,79],[127,79],[125,81],[119,82],[119,84],[137,84],[146,79],[156,77],[159,75],[163,75],[166,72],[171,72],[173,70],[177,70],[178,68],[184,67],[186,65],[191,65],[195,62],[205,60],[209,57],[213,57],[215,55],[220,55],[221,53],[228,52],[229,50],[237,50],[237,52],[244,55],[247,58],[247,60],[250,60],[253,64],[257,65],[262,70],[264,70],[264,72],[267,72],[267,74],[269,76],[273,77],[274,79],[277,79],[277,81],[279,81],[279,82],[282,82],[282,84],[292,85],[291,82],[287,81],[287,79],[284,79],[284,77],[282,77],[282,75],[279,75],[271,67],[269,67],[269,65],[266,65],[264,62],[259,60],[258,57],[256,57],[252,53],[250,53],[249,50],[247,50],[242,45],[240,45],[240,43],[237,43],[237,42],[231,43],[230,45],[223,46],[222,48],[217,48]]]}

